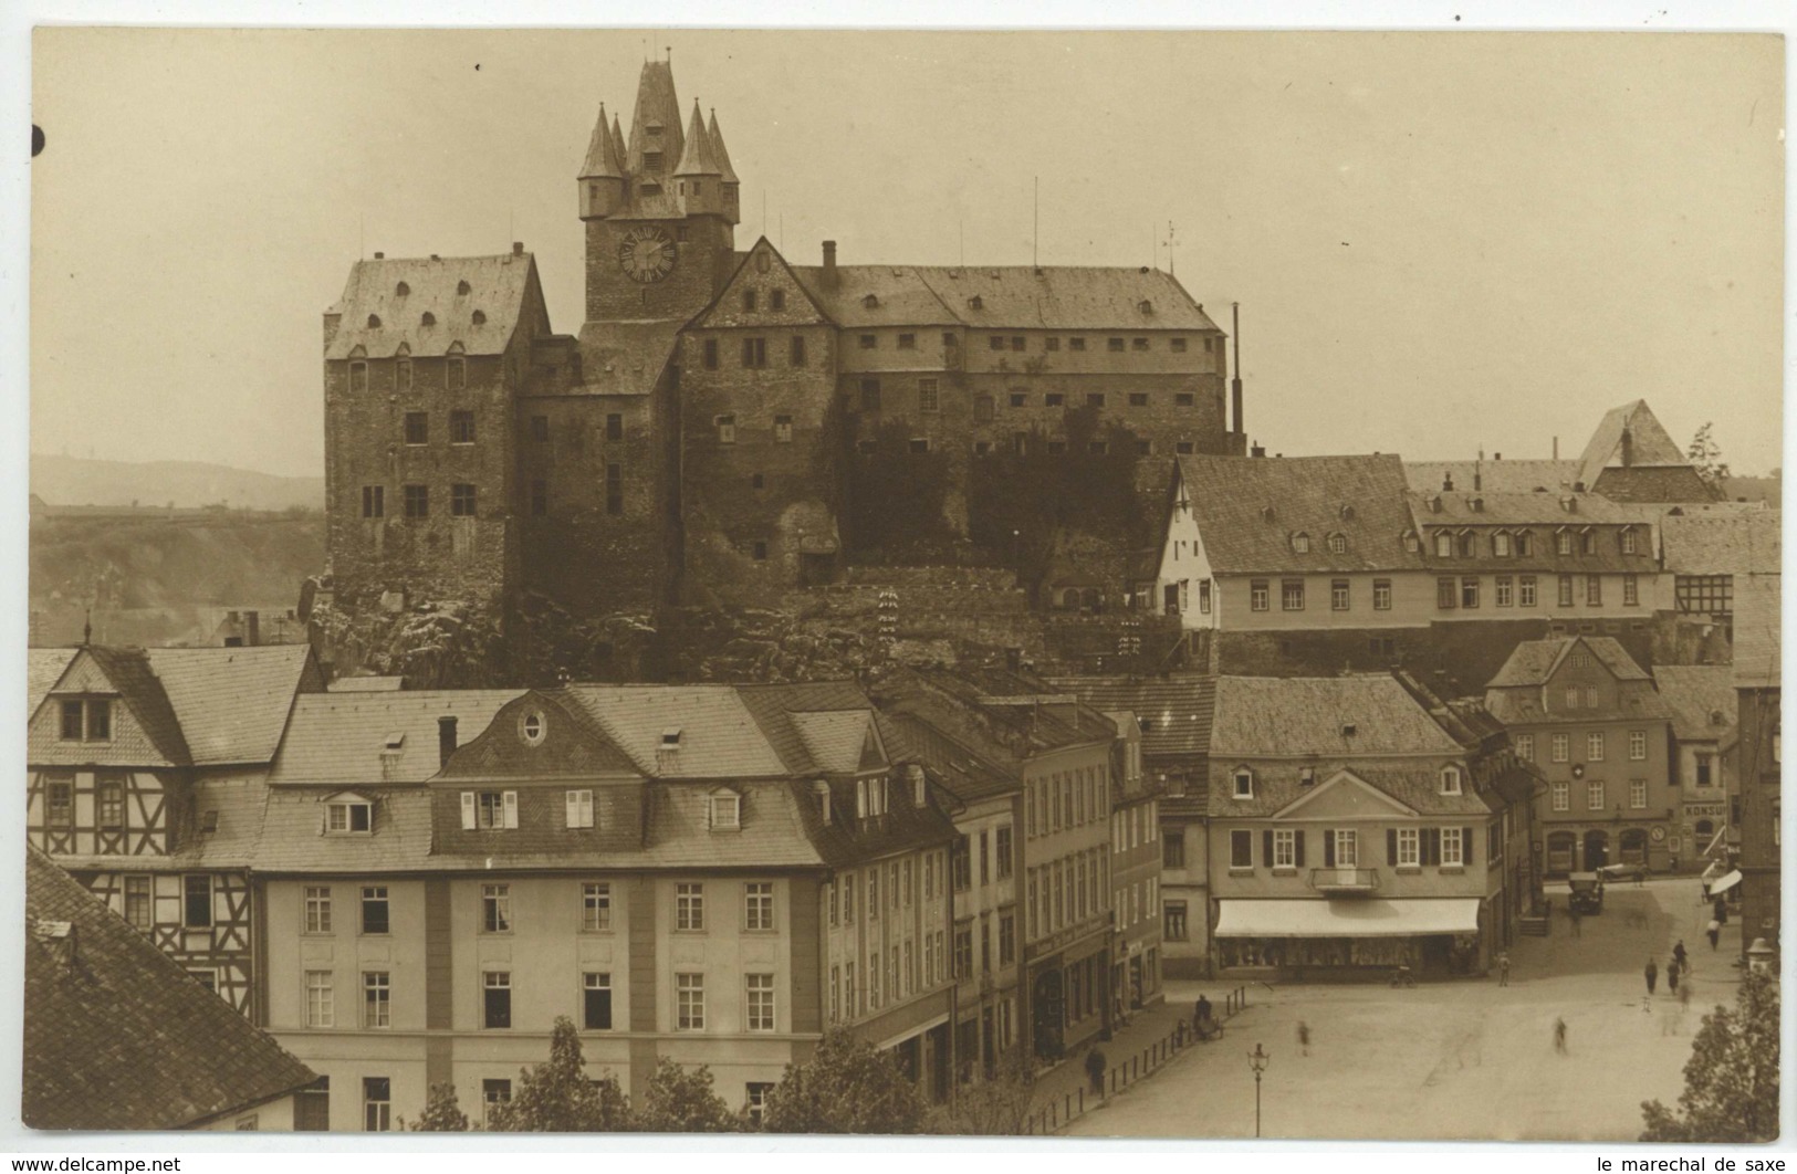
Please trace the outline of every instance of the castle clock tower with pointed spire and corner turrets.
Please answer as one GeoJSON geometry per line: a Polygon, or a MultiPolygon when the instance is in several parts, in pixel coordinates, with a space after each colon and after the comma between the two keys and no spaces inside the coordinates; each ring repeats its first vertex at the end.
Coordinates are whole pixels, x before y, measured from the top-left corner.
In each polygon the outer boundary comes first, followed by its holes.
{"type": "Polygon", "coordinates": [[[625,144],[598,111],[580,169],[586,221],[586,320],[692,318],[735,262],[739,181],[717,129],[692,110],[681,129],[674,72],[643,65],[625,144]]]}

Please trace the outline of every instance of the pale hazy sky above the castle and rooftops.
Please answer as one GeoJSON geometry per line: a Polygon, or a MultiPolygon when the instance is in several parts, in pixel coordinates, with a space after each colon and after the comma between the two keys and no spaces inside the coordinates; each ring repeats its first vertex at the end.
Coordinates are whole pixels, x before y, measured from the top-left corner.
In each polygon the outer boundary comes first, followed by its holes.
{"type": "Polygon", "coordinates": [[[1781,463],[1783,45],[1704,34],[36,34],[32,451],[320,474],[349,266],[537,255],[672,47],[796,262],[1172,264],[1287,454],[1576,454],[1646,399],[1781,463]],[[783,226],[782,226],[783,221],[783,226]],[[965,244],[963,244],[965,241],[965,244]],[[1161,242],[1159,246],[1155,242],[1161,242]]]}

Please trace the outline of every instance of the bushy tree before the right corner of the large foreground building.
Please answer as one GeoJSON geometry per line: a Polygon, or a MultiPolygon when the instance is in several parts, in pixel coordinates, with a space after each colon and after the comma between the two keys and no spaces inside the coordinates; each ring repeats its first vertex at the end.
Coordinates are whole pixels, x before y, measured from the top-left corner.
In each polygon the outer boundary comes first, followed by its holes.
{"type": "Polygon", "coordinates": [[[924,1100],[888,1052],[846,1030],[825,1032],[803,1064],[767,1093],[769,1133],[920,1133],[924,1100]]]}

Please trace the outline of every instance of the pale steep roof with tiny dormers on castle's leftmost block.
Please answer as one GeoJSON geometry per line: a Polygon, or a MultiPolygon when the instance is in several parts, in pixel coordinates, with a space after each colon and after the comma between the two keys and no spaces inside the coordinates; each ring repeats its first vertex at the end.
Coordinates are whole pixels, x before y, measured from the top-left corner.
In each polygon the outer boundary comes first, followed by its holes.
{"type": "MultiPolygon", "coordinates": [[[[341,314],[325,359],[347,359],[361,346],[370,359],[390,359],[404,345],[413,357],[446,355],[451,343],[464,354],[498,355],[512,343],[536,285],[530,253],[496,257],[386,257],[350,266],[343,296],[329,312],[341,314]],[[469,293],[458,293],[467,282],[469,293]],[[401,294],[404,284],[408,293],[401,294]],[[474,312],[485,318],[474,321],[474,312]],[[431,314],[435,325],[424,325],[431,314]],[[379,320],[370,325],[368,318],[379,320]]],[[[541,294],[536,303],[541,305],[541,294]]],[[[548,320],[537,323],[548,332],[548,320]]]]}

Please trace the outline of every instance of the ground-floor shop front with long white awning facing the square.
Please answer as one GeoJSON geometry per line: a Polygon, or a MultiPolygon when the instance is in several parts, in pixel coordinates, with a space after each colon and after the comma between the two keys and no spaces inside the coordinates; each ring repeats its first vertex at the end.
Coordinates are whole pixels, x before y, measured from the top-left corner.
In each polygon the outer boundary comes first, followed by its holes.
{"type": "Polygon", "coordinates": [[[1481,950],[1477,898],[1218,901],[1217,966],[1281,978],[1384,978],[1400,966],[1421,977],[1474,973],[1481,950]]]}

